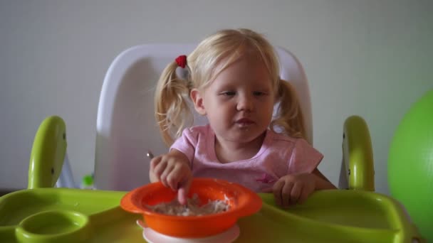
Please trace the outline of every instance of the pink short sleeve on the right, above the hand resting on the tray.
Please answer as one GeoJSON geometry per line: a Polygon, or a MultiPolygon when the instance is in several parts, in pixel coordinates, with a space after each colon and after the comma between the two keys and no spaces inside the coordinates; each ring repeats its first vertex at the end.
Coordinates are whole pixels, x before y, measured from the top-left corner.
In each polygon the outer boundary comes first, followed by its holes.
{"type": "Polygon", "coordinates": [[[311,173],[322,158],[323,154],[308,144],[305,139],[297,139],[288,164],[288,173],[311,173]]]}

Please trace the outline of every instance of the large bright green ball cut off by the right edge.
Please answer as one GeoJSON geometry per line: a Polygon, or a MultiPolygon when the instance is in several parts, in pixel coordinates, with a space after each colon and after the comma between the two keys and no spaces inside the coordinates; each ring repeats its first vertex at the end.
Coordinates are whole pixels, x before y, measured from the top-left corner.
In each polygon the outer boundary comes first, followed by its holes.
{"type": "Polygon", "coordinates": [[[433,90],[413,104],[397,126],[388,183],[422,237],[433,242],[433,90]]]}

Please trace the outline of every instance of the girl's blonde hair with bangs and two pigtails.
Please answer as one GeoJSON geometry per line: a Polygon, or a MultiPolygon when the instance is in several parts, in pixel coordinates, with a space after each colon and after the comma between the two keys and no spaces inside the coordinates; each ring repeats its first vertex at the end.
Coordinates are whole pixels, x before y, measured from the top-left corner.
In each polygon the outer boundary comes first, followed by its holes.
{"type": "Polygon", "coordinates": [[[182,134],[187,121],[192,121],[189,92],[209,85],[219,72],[245,54],[257,55],[271,76],[276,102],[280,103],[271,129],[278,128],[288,136],[306,136],[298,97],[292,85],[280,79],[272,45],[259,33],[241,28],[218,31],[199,43],[187,56],[187,77],[178,77],[175,57],[162,71],[155,92],[155,118],[165,144],[170,146],[182,134]],[[218,65],[221,68],[215,70],[218,65]]]}

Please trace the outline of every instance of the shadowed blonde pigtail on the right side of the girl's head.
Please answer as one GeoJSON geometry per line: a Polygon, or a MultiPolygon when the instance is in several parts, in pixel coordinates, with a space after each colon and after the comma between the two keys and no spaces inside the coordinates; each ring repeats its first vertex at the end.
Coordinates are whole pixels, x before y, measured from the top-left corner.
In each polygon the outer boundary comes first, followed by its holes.
{"type": "Polygon", "coordinates": [[[275,131],[278,126],[288,136],[306,138],[301,104],[290,82],[279,80],[277,99],[280,104],[276,119],[271,122],[271,129],[275,131]]]}

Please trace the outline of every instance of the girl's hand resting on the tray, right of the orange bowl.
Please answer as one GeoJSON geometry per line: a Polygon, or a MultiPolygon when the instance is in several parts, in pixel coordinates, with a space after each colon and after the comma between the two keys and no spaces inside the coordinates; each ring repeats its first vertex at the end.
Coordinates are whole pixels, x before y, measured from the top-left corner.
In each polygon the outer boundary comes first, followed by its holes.
{"type": "Polygon", "coordinates": [[[276,204],[282,207],[302,203],[314,190],[315,175],[311,173],[285,175],[273,184],[276,204]]]}

